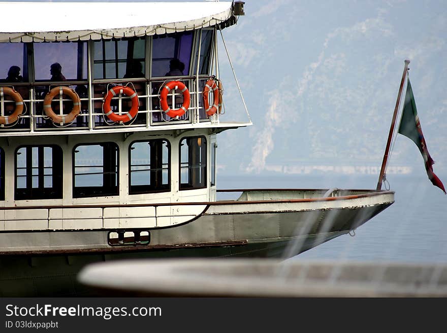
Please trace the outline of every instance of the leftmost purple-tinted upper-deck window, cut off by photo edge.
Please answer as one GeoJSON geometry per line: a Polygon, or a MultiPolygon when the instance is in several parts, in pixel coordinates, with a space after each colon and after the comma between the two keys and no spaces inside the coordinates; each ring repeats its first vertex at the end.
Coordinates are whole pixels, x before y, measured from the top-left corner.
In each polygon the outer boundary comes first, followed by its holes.
{"type": "Polygon", "coordinates": [[[0,82],[27,82],[26,45],[0,43],[0,82]]]}

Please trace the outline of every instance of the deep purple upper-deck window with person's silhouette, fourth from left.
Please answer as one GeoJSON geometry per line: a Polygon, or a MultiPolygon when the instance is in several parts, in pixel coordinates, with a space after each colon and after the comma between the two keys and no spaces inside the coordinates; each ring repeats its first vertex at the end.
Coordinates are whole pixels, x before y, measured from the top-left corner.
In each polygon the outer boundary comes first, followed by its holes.
{"type": "Polygon", "coordinates": [[[185,76],[189,74],[193,32],[170,33],[152,38],[151,77],[185,76]]]}

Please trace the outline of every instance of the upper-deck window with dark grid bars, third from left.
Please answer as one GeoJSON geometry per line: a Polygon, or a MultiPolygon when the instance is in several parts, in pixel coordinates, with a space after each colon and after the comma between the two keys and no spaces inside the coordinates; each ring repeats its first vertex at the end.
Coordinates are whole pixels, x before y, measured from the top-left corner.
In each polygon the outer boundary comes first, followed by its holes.
{"type": "Polygon", "coordinates": [[[94,42],[94,79],[144,78],[144,38],[94,42]]]}

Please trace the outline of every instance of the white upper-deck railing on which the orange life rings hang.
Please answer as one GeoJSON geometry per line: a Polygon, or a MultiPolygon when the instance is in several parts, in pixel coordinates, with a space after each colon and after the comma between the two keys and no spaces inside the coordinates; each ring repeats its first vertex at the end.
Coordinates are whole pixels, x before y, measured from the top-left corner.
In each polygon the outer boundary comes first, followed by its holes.
{"type": "MultiPolygon", "coordinates": [[[[73,131],[73,130],[101,130],[110,128],[156,128],[163,125],[173,124],[191,124],[199,122],[218,123],[219,115],[208,117],[205,113],[202,100],[203,87],[208,77],[201,76],[198,80],[196,77],[181,78],[181,81],[188,87],[190,94],[190,104],[184,116],[172,119],[160,109],[159,88],[165,82],[173,80],[157,79],[156,81],[141,79],[115,80],[98,80],[91,85],[88,91],[88,83],[64,82],[60,84],[39,83],[39,84],[17,84],[8,86],[18,91],[24,101],[24,109],[22,115],[17,122],[13,124],[0,125],[0,136],[8,135],[10,132],[48,132],[48,131],[73,131]],[[103,101],[109,89],[114,85],[129,86],[138,95],[139,109],[137,117],[129,122],[113,122],[103,112],[103,101]],[[46,94],[54,87],[67,86],[70,89],[79,92],[81,101],[81,112],[76,119],[67,124],[53,123],[44,112],[44,98],[46,94]],[[83,87],[79,89],[79,87],[83,87]],[[84,92],[85,93],[82,93],[84,92]],[[199,97],[200,96],[200,97],[199,97]]],[[[2,86],[7,87],[5,84],[2,86]]],[[[65,95],[64,95],[65,96],[65,95]]],[[[212,101],[210,94],[210,101],[212,101]]],[[[168,103],[172,108],[179,108],[183,102],[182,93],[180,91],[172,91],[168,95],[168,103]],[[172,103],[174,101],[174,103],[172,103]]],[[[113,111],[117,114],[125,114],[130,109],[130,98],[125,95],[117,95],[112,98],[113,111]]],[[[14,101],[7,95],[0,96],[0,116],[11,114],[14,108],[14,101]]],[[[67,97],[62,98],[57,95],[52,102],[54,105],[54,113],[60,116],[67,115],[73,108],[73,101],[67,97]]]]}

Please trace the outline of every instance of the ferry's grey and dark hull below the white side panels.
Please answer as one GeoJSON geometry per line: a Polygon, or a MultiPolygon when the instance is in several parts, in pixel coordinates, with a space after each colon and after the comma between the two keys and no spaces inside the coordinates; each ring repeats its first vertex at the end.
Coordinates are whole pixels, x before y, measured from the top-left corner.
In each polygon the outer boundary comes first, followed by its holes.
{"type": "Polygon", "coordinates": [[[146,245],[111,246],[108,231],[4,232],[0,234],[0,296],[94,295],[76,276],[95,262],[168,257],[285,259],[352,232],[393,202],[393,192],[336,200],[221,202],[208,205],[187,223],[151,229],[146,245]]]}

